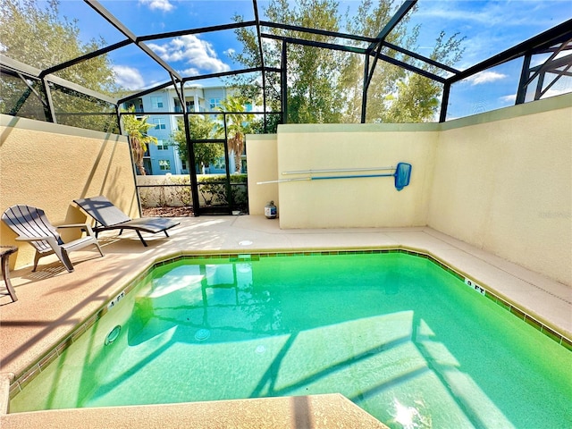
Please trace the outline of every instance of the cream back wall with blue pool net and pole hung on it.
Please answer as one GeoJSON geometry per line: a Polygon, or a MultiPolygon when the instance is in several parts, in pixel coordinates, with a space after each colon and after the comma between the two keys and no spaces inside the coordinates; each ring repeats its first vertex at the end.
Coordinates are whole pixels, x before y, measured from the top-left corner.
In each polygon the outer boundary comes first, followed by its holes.
{"type": "MultiPolygon", "coordinates": [[[[408,187],[392,177],[279,184],[281,228],[419,226],[433,173],[438,124],[280,125],[278,179],[307,177],[282,172],[412,165],[408,187]]],[[[384,174],[340,172],[320,175],[384,174]]]]}

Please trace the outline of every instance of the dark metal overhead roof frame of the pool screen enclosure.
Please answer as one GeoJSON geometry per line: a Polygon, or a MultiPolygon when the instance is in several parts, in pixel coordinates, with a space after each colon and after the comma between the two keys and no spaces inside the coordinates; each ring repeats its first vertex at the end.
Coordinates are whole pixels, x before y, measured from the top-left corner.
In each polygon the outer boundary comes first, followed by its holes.
{"type": "MultiPolygon", "coordinates": [[[[102,16],[105,21],[109,22],[110,25],[113,25],[116,29],[118,29],[122,35],[125,37],[122,41],[114,43],[110,46],[105,46],[101,49],[98,49],[95,52],[80,55],[74,59],[69,61],[56,64],[45,70],[35,71],[30,73],[29,71],[23,72],[19,70],[17,66],[14,66],[14,62],[11,62],[8,57],[5,55],[0,56],[0,70],[4,73],[12,74],[13,76],[18,76],[19,74],[27,74],[30,79],[35,79],[42,82],[43,88],[46,91],[46,107],[47,110],[50,111],[51,114],[48,114],[48,118],[51,116],[51,119],[55,121],[55,113],[53,112],[53,106],[51,106],[51,97],[49,95],[49,82],[55,82],[58,78],[54,75],[56,71],[61,71],[71,65],[75,65],[77,63],[81,63],[83,61],[87,61],[88,59],[94,58],[98,55],[105,55],[110,52],[113,52],[116,49],[122,48],[124,46],[134,45],[138,46],[144,53],[147,55],[151,61],[158,63],[164,71],[168,74],[169,80],[165,83],[157,85],[153,88],[147,88],[142,91],[139,91],[135,94],[130,94],[129,97],[123,97],[120,99],[114,100],[114,103],[117,107],[119,112],[119,105],[122,101],[128,98],[133,97],[140,97],[141,95],[148,94],[153,90],[158,88],[166,88],[168,86],[173,85],[174,88],[177,89],[178,95],[180,98],[183,97],[182,91],[184,88],[184,83],[193,81],[193,80],[201,80],[207,79],[210,77],[222,77],[222,76],[230,76],[236,75],[240,73],[246,72],[261,72],[263,77],[263,94],[265,94],[265,71],[274,71],[274,72],[281,72],[282,73],[282,80],[286,77],[286,64],[282,64],[280,69],[277,68],[268,68],[265,66],[265,59],[264,59],[264,50],[262,48],[262,39],[263,38],[278,38],[282,39],[283,44],[300,44],[300,45],[307,45],[307,46],[315,46],[321,47],[326,49],[339,49],[345,50],[348,52],[355,52],[360,55],[366,56],[366,62],[368,63],[366,66],[366,71],[364,73],[364,92],[363,92],[363,103],[362,103],[362,118],[361,121],[365,122],[365,111],[366,111],[366,97],[367,97],[367,87],[368,82],[371,80],[371,77],[374,72],[375,63],[379,60],[385,61],[388,63],[393,63],[394,65],[400,66],[408,71],[416,72],[421,74],[429,79],[435,80],[443,85],[443,95],[442,95],[442,108],[441,108],[441,115],[439,118],[440,122],[444,122],[447,116],[447,104],[450,92],[450,86],[459,80],[467,79],[467,77],[473,76],[480,71],[484,71],[488,68],[491,68],[495,65],[506,63],[511,59],[523,57],[524,64],[523,64],[523,71],[521,74],[520,82],[518,83],[518,96],[516,103],[523,103],[524,102],[524,94],[526,92],[526,87],[530,85],[532,80],[539,75],[542,75],[542,78],[546,73],[552,73],[556,75],[556,78],[552,80],[551,84],[554,81],[558,80],[562,76],[569,76],[570,72],[569,69],[572,66],[572,55],[566,55],[560,58],[553,58],[547,61],[544,64],[537,65],[534,67],[530,67],[530,57],[532,55],[537,54],[538,52],[544,52],[547,49],[550,50],[551,46],[559,45],[555,49],[558,49],[559,52],[564,52],[566,50],[572,49],[572,20],[565,21],[552,29],[546,30],[543,33],[535,36],[534,38],[529,38],[526,41],[521,42],[517,46],[513,46],[498,55],[493,55],[491,58],[472,65],[471,67],[467,68],[464,71],[458,71],[457,69],[450,67],[446,64],[438,63],[430,58],[425,57],[424,55],[416,54],[406,48],[401,46],[395,46],[387,41],[385,41],[385,37],[391,32],[393,29],[406,15],[409,13],[411,8],[413,8],[417,2],[417,0],[407,0],[403,4],[401,4],[400,8],[394,13],[391,20],[386,23],[383,29],[380,30],[380,33],[377,35],[376,38],[366,38],[364,36],[359,35],[350,35],[344,34],[340,32],[332,32],[326,31],[322,29],[312,29],[307,27],[299,27],[290,24],[272,22],[272,21],[261,21],[258,16],[258,5],[257,0],[252,0],[255,20],[250,21],[242,21],[242,22],[234,22],[210,27],[202,27],[202,28],[194,28],[194,29],[182,29],[177,31],[166,31],[164,33],[156,33],[156,34],[147,34],[142,36],[137,36],[133,34],[130,29],[122,24],[122,21],[119,21],[117,18],[114,17],[112,13],[109,13],[105,7],[99,3],[97,0],[84,0],[86,4],[88,4],[96,13],[102,16]],[[241,69],[235,71],[228,71],[223,73],[211,73],[211,74],[203,74],[199,76],[182,76],[179,71],[175,71],[170,64],[166,63],[159,55],[156,55],[152,49],[150,49],[146,42],[157,40],[161,38],[172,38],[181,35],[189,35],[189,34],[199,34],[205,32],[212,32],[212,31],[220,31],[226,29],[239,29],[239,28],[255,28],[257,31],[257,39],[258,39],[258,46],[259,46],[259,55],[260,55],[260,64],[255,68],[250,69],[241,69]],[[281,29],[288,29],[292,31],[298,31],[302,34],[322,34],[324,36],[329,36],[332,38],[339,38],[342,40],[354,40],[354,41],[362,41],[369,43],[370,45],[366,48],[357,48],[355,46],[350,45],[341,45],[341,44],[324,44],[322,42],[315,42],[313,40],[308,40],[306,38],[298,37],[298,38],[281,38],[278,36],[274,36],[272,34],[264,33],[262,31],[263,28],[281,28],[281,29]],[[416,67],[415,65],[411,65],[395,59],[390,55],[384,55],[381,52],[382,47],[387,49],[391,49],[395,52],[399,52],[402,55],[407,55],[412,58],[415,58],[418,61],[421,61],[425,64],[431,65],[433,67],[438,67],[442,71],[449,73],[450,76],[443,77],[439,74],[432,73],[430,71],[425,71],[423,68],[416,67]],[[373,57],[373,64],[369,64],[369,58],[373,57]],[[178,88],[180,86],[180,88],[178,88]]],[[[285,55],[282,57],[282,61],[285,61],[285,55]]],[[[539,79],[540,80],[540,79],[539,79]]],[[[75,85],[71,82],[66,83],[62,80],[59,81],[58,85],[62,85],[63,88],[71,88],[72,90],[79,90],[79,92],[83,92],[84,94],[89,95],[89,97],[94,97],[105,100],[105,102],[109,102],[110,97],[106,97],[104,95],[97,95],[94,94],[94,91],[90,91],[87,88],[81,88],[78,85],[75,85]]],[[[542,84],[540,85],[542,87],[542,84]]],[[[546,90],[546,89],[545,89],[546,90]]],[[[545,92],[544,90],[544,92],[545,92]]],[[[282,91],[284,92],[284,91],[282,91]]],[[[536,91],[537,97],[542,97],[543,90],[538,89],[536,91]]],[[[282,96],[282,98],[284,98],[282,96]]],[[[184,103],[182,104],[184,106],[184,103]]],[[[265,105],[265,103],[264,103],[265,105]]],[[[285,111],[286,109],[286,100],[282,100],[282,110],[285,111]]],[[[184,108],[184,107],[183,107],[184,108]]],[[[264,110],[266,111],[266,106],[264,106],[264,110]]],[[[283,121],[285,121],[285,115],[282,115],[283,121]]]]}

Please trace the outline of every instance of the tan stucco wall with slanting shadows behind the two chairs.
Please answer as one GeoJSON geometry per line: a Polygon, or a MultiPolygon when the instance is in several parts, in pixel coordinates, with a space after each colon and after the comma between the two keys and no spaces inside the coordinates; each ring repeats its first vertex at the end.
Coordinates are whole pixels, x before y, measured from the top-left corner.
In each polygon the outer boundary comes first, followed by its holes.
{"type": "MultiPolygon", "coordinates": [[[[0,115],[0,213],[25,204],[42,208],[55,225],[83,223],[86,216],[73,199],[100,194],[139,215],[126,138],[0,115]]],[[[78,232],[66,233],[63,239],[71,240],[78,232]]],[[[0,223],[0,243],[19,247],[12,267],[31,264],[33,248],[15,237],[0,223]]]]}

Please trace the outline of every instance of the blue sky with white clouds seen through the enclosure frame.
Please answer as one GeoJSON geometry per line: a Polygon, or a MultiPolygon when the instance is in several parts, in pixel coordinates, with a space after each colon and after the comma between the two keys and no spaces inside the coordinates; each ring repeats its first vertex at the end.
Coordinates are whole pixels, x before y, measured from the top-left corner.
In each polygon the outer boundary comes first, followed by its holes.
{"type": "MultiPolygon", "coordinates": [[[[245,21],[254,19],[251,0],[100,0],[99,3],[136,36],[231,23],[235,14],[243,16],[245,21]]],[[[265,20],[268,3],[268,0],[257,1],[261,20],[265,20]]],[[[340,0],[339,3],[342,13],[347,8],[351,13],[360,2],[340,0]]],[[[396,0],[395,6],[399,7],[400,3],[396,0]]],[[[113,44],[124,39],[81,0],[62,0],[60,14],[77,20],[80,39],[84,42],[104,38],[106,44],[113,44]]],[[[571,18],[569,0],[419,0],[415,13],[410,13],[411,28],[421,25],[418,46],[403,47],[429,55],[441,30],[447,36],[458,33],[465,38],[465,53],[454,67],[464,70],[571,18]]],[[[183,76],[242,68],[231,58],[241,50],[232,30],[156,39],[147,44],[183,76]]],[[[127,46],[109,56],[118,83],[124,88],[150,88],[170,79],[164,69],[150,61],[138,47],[127,46]]],[[[513,105],[521,64],[521,60],[515,60],[453,85],[448,119],[513,105]]],[[[219,82],[200,80],[198,83],[208,86],[219,82]]],[[[571,85],[570,79],[562,80],[551,91],[553,94],[570,92],[571,85]]]]}

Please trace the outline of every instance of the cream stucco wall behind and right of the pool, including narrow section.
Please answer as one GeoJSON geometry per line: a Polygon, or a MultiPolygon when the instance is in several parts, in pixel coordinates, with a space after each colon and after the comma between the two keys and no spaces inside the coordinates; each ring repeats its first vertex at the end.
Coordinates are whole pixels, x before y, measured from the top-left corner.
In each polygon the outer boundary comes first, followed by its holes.
{"type": "Polygon", "coordinates": [[[572,94],[443,124],[281,125],[267,143],[248,146],[250,213],[279,194],[281,228],[428,225],[572,284],[572,94]],[[391,178],[254,184],[398,162],[413,165],[400,192],[391,178]]]}

